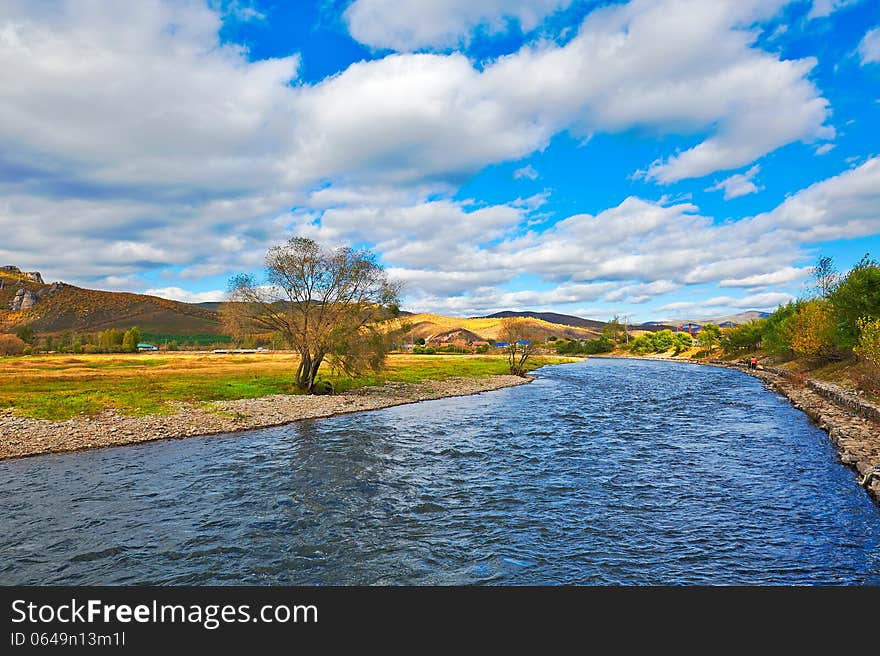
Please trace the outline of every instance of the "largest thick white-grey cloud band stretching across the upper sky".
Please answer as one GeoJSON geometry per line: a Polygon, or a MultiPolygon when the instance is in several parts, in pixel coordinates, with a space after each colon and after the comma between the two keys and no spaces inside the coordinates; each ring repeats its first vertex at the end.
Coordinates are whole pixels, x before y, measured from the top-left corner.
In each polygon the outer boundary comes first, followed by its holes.
{"type": "Polygon", "coordinates": [[[814,61],[755,47],[748,28],[780,2],[633,0],[594,10],[563,46],[480,68],[460,53],[401,54],[311,85],[290,84],[297,56],[249,61],[221,44],[204,6],[61,2],[43,16],[13,3],[0,19],[0,145],[59,182],[216,197],[448,189],[565,129],[707,130],[648,169],[668,183],[833,134],[807,79],[814,61]]]}

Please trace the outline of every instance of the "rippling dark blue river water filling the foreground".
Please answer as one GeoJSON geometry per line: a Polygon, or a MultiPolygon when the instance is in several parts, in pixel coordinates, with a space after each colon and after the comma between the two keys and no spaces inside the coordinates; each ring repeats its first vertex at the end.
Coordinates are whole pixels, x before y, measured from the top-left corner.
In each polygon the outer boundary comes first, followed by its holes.
{"type": "Polygon", "coordinates": [[[756,379],[600,359],[537,377],[0,462],[0,583],[880,583],[880,508],[756,379]]]}

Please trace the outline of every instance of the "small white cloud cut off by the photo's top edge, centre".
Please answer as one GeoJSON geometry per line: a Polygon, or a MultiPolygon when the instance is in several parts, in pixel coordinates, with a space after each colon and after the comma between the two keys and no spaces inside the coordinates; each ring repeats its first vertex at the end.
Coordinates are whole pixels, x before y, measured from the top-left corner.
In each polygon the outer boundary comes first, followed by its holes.
{"type": "Polygon", "coordinates": [[[524,32],[572,0],[355,0],[344,18],[351,35],[373,48],[400,52],[449,48],[470,33],[506,32],[510,21],[524,32]]]}

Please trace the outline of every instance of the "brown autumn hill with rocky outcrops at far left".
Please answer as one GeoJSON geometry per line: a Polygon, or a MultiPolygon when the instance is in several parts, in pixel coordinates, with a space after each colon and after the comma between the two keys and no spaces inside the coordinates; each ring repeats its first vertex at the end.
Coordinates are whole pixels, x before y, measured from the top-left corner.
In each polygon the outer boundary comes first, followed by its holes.
{"type": "Polygon", "coordinates": [[[27,326],[37,333],[97,332],[138,326],[143,332],[218,334],[213,310],[128,292],[43,282],[39,273],[0,268],[0,332],[27,326]]]}

